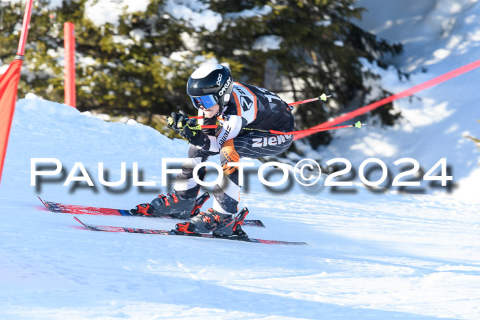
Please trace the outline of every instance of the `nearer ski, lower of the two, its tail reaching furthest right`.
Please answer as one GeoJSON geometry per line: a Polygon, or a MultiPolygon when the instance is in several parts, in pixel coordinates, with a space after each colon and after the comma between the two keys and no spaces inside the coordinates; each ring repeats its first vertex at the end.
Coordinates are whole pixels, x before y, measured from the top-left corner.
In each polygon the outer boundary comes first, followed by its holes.
{"type": "Polygon", "coordinates": [[[226,240],[235,240],[235,241],[245,241],[251,243],[263,243],[265,245],[307,245],[304,242],[293,242],[293,241],[277,241],[277,240],[265,240],[265,239],[255,239],[249,238],[248,236],[243,237],[228,237],[228,236],[214,236],[213,234],[183,234],[176,230],[153,230],[153,229],[136,229],[132,227],[113,227],[110,225],[92,225],[80,221],[77,217],[73,217],[75,221],[86,227],[88,230],[92,231],[104,231],[104,232],[127,232],[134,234],[161,234],[164,236],[191,236],[195,238],[217,238],[217,239],[226,239],[226,240]]]}

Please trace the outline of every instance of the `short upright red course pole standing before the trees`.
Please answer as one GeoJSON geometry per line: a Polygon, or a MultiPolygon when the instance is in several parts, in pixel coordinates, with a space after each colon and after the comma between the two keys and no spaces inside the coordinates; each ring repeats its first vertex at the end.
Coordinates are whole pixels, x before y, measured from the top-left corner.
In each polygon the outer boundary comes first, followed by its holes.
{"type": "Polygon", "coordinates": [[[65,51],[64,86],[65,104],[77,108],[75,93],[75,25],[66,22],[63,25],[63,45],[65,51]]]}

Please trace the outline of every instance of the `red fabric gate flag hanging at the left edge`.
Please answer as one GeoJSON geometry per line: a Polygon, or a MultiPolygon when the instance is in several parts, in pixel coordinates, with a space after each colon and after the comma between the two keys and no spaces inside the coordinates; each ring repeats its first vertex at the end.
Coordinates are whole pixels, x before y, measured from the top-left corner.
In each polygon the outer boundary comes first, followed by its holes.
{"type": "Polygon", "coordinates": [[[0,77],[0,179],[3,171],[3,160],[7,152],[8,135],[15,110],[16,93],[20,81],[22,60],[15,59],[0,77]]]}

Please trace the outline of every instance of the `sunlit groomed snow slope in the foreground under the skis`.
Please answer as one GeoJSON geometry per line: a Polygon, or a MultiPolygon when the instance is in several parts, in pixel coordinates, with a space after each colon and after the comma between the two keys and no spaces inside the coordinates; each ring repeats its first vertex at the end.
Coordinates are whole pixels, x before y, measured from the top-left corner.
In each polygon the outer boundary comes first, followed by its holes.
{"type": "MultiPolygon", "coordinates": [[[[250,178],[242,204],[266,229],[250,236],[307,241],[268,246],[84,230],[71,214],[41,210],[36,195],[131,208],[154,193],[98,184],[98,162],[119,178],[139,162],[160,181],[161,158],[187,144],[136,123],[106,123],[36,99],[17,103],[1,182],[0,306],[5,319],[345,319],[479,315],[477,204],[435,195],[356,195],[295,186],[266,190],[250,178]],[[30,158],[82,162],[97,185],[63,179],[30,186],[30,158]]],[[[78,173],[77,173],[78,174],[78,173]]],[[[148,187],[152,188],[152,187],[148,187]]],[[[166,192],[160,187],[158,192],[166,192]]],[[[208,201],[211,204],[211,200],[208,201]]],[[[173,221],[96,217],[88,223],[170,229],[173,221]]]]}

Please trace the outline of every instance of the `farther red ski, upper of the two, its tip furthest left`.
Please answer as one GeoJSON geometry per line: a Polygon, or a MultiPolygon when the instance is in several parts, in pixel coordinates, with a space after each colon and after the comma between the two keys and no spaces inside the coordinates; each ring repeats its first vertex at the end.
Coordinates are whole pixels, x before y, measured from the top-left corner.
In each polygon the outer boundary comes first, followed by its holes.
{"type": "MultiPolygon", "coordinates": [[[[200,208],[203,206],[205,201],[210,198],[208,193],[204,193],[200,197],[198,197],[197,201],[195,202],[195,208],[192,210],[192,214],[195,215],[200,212],[200,208]],[[195,212],[196,210],[199,210],[195,212]]],[[[61,212],[61,213],[71,213],[71,214],[95,214],[95,215],[113,215],[113,216],[125,216],[125,217],[154,217],[154,218],[170,218],[170,219],[178,219],[176,217],[170,216],[134,216],[130,213],[130,210],[123,210],[123,209],[112,209],[112,208],[99,208],[99,207],[89,207],[89,206],[77,206],[75,204],[59,204],[58,202],[51,202],[43,200],[42,198],[38,197],[42,204],[50,210],[51,212],[61,212]]],[[[262,221],[260,220],[244,220],[243,225],[248,225],[251,227],[265,227],[262,221]]]]}

